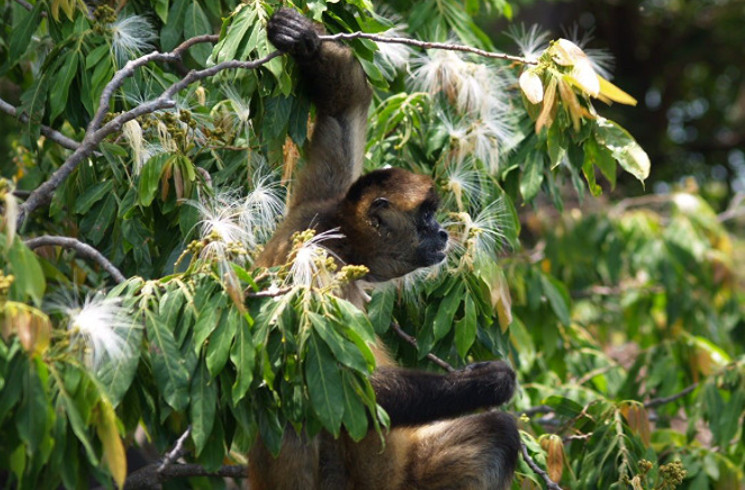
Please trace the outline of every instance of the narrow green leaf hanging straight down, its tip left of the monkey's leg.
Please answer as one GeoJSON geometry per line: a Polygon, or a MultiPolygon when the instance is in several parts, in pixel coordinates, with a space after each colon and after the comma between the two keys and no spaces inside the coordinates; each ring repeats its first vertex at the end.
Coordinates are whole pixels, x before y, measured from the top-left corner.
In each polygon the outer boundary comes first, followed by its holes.
{"type": "Polygon", "coordinates": [[[217,381],[212,379],[203,362],[197,366],[194,378],[191,380],[191,439],[194,441],[194,451],[199,457],[212,433],[217,410],[217,381]]]}

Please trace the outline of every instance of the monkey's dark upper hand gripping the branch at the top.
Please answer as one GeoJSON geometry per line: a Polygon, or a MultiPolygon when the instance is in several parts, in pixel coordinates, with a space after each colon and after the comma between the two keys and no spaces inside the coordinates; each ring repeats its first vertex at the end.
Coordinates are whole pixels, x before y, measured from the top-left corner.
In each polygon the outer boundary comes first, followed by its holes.
{"type": "Polygon", "coordinates": [[[279,9],[269,19],[266,30],[277,49],[301,61],[314,58],[321,47],[320,28],[296,10],[279,9]]]}

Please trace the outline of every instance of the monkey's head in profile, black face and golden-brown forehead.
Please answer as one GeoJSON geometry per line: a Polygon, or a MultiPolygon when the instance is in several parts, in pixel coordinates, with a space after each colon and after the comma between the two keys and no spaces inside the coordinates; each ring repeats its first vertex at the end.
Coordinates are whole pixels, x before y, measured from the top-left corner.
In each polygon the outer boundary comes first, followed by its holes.
{"type": "Polygon", "coordinates": [[[349,262],[370,269],[371,281],[442,262],[448,234],[435,217],[438,203],[427,176],[387,168],[360,177],[340,206],[349,262]]]}

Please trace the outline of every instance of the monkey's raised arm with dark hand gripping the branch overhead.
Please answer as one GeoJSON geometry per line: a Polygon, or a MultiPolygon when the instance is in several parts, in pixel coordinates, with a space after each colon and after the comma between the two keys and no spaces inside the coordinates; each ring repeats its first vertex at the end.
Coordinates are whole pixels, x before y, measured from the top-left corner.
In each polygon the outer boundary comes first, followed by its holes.
{"type": "Polygon", "coordinates": [[[290,9],[280,9],[267,24],[272,44],[300,66],[303,86],[318,114],[290,208],[345,194],[362,171],[372,91],[351,50],[321,41],[319,33],[320,26],[290,9]]]}

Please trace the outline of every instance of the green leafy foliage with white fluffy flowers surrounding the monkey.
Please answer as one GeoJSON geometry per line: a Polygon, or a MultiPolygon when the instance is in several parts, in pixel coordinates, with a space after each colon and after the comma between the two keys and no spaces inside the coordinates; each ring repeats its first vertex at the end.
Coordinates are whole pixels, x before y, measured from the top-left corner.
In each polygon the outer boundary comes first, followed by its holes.
{"type": "MultiPolygon", "coordinates": [[[[563,209],[567,183],[596,195],[617,165],[640,180],[649,172],[634,139],[592,103],[631,97],[574,43],[507,64],[349,41],[376,89],[366,166],[432,175],[453,241],[446,264],[376,289],[365,314],[333,294],[364,271],[337,269],[328,236],[300,234],[286,265],[252,266],[308,138],[312,108],[290,59],[218,71],[142,109],[187,70],[273,52],[264,27],[277,3],[117,6],[39,0],[2,11],[0,73],[21,92],[22,114],[0,187],[3,478],[19,488],[122,486],[138,427],[161,454],[188,428],[186,457],[208,471],[244,462],[259,434],[278,450],[288,426],[354,439],[384,430],[368,381],[378,335],[403,364],[425,369],[436,368],[429,353],[456,367],[510,358],[523,386],[513,408],[550,407],[523,422],[526,445],[572,488],[669,488],[682,478],[678,461],[687,487],[742,480],[742,283],[733,239],[706,203],[681,193],[669,214],[553,217],[529,230],[543,252],[520,252],[518,216],[544,196],[563,209]],[[108,85],[128,60],[216,32],[212,48],[194,44],[177,63],[147,63],[108,85]],[[101,103],[109,113],[98,121],[101,103]],[[113,129],[52,188],[48,208],[29,208],[101,128],[113,129]],[[18,203],[14,191],[31,196],[18,203]],[[32,252],[24,239],[43,234],[96,247],[126,281],[112,284],[66,249],[32,252]],[[615,360],[617,345],[638,355],[615,360]],[[684,398],[641,404],[694,382],[684,398]]],[[[501,0],[389,2],[406,27],[365,0],[296,7],[330,33],[452,33],[486,50],[474,16],[511,12],[501,0]]],[[[521,466],[515,485],[531,484],[542,482],[521,466]]]]}

